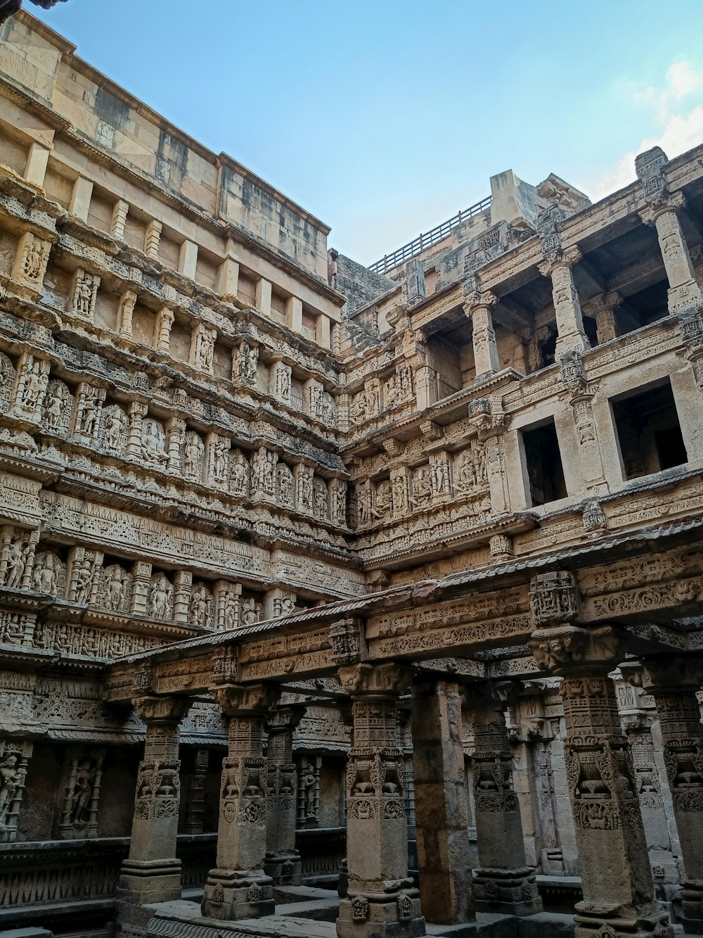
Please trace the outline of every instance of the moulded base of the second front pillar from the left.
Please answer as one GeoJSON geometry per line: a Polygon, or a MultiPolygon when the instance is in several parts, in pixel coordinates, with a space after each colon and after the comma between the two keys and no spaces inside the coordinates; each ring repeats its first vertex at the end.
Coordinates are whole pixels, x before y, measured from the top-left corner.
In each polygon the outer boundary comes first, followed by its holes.
{"type": "Polygon", "coordinates": [[[274,915],[274,885],[262,870],[210,870],[202,894],[202,915],[236,921],[274,915]]]}

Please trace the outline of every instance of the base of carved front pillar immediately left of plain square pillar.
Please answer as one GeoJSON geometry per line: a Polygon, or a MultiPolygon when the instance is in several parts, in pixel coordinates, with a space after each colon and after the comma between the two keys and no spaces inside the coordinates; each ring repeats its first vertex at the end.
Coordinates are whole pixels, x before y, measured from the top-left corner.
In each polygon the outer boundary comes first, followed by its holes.
{"type": "Polygon", "coordinates": [[[337,938],[415,938],[425,934],[420,894],[410,885],[387,893],[350,888],[349,898],[339,902],[337,938]]]}

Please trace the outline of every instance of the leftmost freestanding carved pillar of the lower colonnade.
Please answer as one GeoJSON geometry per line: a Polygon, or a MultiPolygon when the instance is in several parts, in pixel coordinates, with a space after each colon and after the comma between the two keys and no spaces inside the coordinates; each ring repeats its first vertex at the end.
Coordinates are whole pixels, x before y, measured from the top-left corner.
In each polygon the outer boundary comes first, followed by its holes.
{"type": "Polygon", "coordinates": [[[137,775],[129,857],[120,870],[117,901],[123,930],[145,934],[151,914],[139,907],[181,898],[181,861],[176,859],[178,723],[188,701],[140,697],[134,705],[146,724],[146,739],[137,775]]]}

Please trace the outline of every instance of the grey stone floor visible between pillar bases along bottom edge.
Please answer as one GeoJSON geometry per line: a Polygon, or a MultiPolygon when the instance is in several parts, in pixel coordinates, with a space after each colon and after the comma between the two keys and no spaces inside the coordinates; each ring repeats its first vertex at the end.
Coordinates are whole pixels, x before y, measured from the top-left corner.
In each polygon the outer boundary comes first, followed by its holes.
{"type": "MultiPolygon", "coordinates": [[[[150,906],[150,938],[337,938],[337,892],[308,886],[287,887],[276,915],[220,922],[203,918],[197,902],[180,900],[150,906]]],[[[681,926],[674,926],[683,938],[681,926]]],[[[544,912],[527,918],[479,913],[468,925],[427,925],[428,935],[447,938],[571,938],[571,915],[544,912]]]]}

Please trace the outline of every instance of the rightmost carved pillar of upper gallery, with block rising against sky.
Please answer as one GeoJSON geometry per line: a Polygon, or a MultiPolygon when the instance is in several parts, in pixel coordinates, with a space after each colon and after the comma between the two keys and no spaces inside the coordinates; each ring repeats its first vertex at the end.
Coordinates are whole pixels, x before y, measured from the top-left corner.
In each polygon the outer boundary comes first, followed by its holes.
{"type": "Polygon", "coordinates": [[[647,208],[639,213],[639,217],[645,224],[656,228],[669,281],[669,312],[681,312],[695,308],[703,294],[696,281],[691,255],[681,231],[678,213],[685,199],[682,192],[669,193],[664,173],[667,161],[666,154],[659,146],[636,157],[635,170],[647,202],[647,208]]]}

